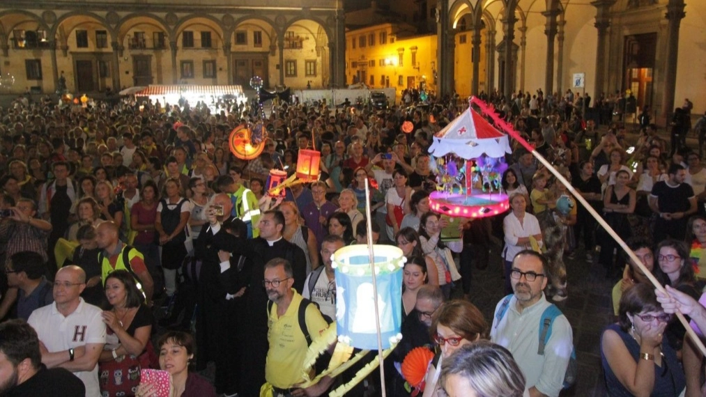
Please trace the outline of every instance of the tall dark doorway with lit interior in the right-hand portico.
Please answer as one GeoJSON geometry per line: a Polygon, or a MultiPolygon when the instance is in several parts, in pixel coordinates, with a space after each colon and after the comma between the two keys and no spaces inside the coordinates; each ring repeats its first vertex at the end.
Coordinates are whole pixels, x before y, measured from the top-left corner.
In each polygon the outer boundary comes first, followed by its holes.
{"type": "Polygon", "coordinates": [[[637,98],[639,109],[645,105],[652,107],[652,83],[656,54],[656,32],[625,37],[623,94],[630,90],[637,98]]]}

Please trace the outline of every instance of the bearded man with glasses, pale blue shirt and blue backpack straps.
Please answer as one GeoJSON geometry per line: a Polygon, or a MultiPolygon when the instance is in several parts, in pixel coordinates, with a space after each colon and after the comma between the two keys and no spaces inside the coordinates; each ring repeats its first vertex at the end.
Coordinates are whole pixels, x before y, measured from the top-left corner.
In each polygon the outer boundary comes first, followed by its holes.
{"type": "Polygon", "coordinates": [[[496,306],[491,341],[510,350],[527,379],[529,396],[558,396],[573,351],[573,334],[563,314],[551,322],[549,341],[540,354],[538,330],[545,310],[546,258],[532,250],[515,255],[510,269],[514,294],[496,306]]]}

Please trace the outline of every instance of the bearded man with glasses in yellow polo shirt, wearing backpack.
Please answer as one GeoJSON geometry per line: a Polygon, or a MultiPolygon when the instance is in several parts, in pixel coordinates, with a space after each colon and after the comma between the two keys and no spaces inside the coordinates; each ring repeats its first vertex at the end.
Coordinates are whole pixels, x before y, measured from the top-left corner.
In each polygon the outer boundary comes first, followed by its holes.
{"type": "MultiPolygon", "coordinates": [[[[324,377],[318,384],[306,390],[296,385],[304,379],[301,370],[306,358],[309,343],[304,330],[299,326],[299,305],[302,297],[292,285],[292,265],[286,259],[275,258],[265,264],[263,281],[268,298],[273,302],[268,313],[268,342],[270,349],[265,363],[265,380],[261,396],[319,396],[324,393],[333,379],[324,377]]],[[[269,306],[268,306],[269,307],[269,306]]],[[[328,324],[315,305],[306,307],[306,328],[312,341],[321,337],[328,324]]]]}

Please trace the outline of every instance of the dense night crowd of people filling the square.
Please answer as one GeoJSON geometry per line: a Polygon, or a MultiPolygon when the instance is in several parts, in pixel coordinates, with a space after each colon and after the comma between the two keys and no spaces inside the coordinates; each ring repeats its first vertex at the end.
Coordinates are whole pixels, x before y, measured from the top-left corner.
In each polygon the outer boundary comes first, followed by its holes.
{"type": "MultiPolygon", "coordinates": [[[[616,282],[616,323],[601,338],[610,395],[700,396],[703,356],[673,313],[690,314],[696,330],[706,318],[695,303],[706,279],[706,116],[692,126],[686,99],[666,142],[634,97],[479,95],[671,287],[664,295],[518,142],[504,159],[507,212],[432,212],[429,195],[441,190],[433,135],[468,105],[421,97],[405,90],[402,104],[384,109],[315,102],[266,111],[256,102],[20,97],[0,109],[0,368],[10,366],[0,396],[326,395],[371,360],[300,386],[307,348],[337,315],[331,255],[369,238],[366,200],[373,242],[407,259],[388,395],[570,389],[572,330],[554,303],[570,298],[564,263],[583,262],[616,282]],[[231,131],[260,120],[261,154],[235,157],[231,131]],[[293,175],[299,149],[321,152],[320,176],[269,195],[270,170],[293,175]],[[451,229],[457,237],[445,237],[451,229]],[[484,318],[471,303],[472,269],[496,262],[507,296],[484,318]],[[434,356],[426,387],[401,369],[424,346],[434,356]],[[206,381],[198,372],[210,362],[206,381]],[[160,381],[148,369],[169,375],[160,381]]],[[[374,371],[349,395],[377,396],[380,384],[374,371]]]]}

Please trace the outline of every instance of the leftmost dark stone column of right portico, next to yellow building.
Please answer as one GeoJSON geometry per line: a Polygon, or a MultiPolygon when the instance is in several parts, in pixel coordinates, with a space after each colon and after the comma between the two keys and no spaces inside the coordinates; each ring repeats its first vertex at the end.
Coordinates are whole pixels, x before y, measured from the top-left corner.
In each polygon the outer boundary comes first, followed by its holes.
{"type": "Polygon", "coordinates": [[[454,34],[448,18],[448,1],[439,0],[436,6],[436,43],[439,67],[438,95],[451,95],[454,92],[454,34]]]}

